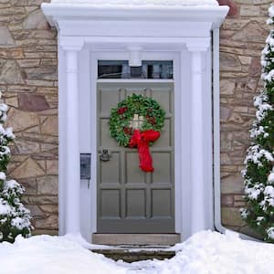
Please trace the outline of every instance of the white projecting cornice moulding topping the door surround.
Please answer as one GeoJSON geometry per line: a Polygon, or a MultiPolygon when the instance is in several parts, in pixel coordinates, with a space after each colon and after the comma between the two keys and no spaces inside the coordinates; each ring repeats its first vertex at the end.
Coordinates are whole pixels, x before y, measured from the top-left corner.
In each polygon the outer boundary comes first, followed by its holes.
{"type": "Polygon", "coordinates": [[[41,5],[51,26],[58,26],[59,20],[71,21],[173,21],[211,22],[218,27],[227,16],[228,6],[184,6],[184,5],[76,5],[43,3],[41,5]]]}

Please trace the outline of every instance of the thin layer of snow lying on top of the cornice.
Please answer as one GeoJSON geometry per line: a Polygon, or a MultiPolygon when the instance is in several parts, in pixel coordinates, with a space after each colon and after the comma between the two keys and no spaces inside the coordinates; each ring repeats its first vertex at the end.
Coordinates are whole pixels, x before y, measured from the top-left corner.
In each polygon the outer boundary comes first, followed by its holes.
{"type": "Polygon", "coordinates": [[[216,6],[216,0],[52,0],[52,4],[69,5],[136,5],[136,6],[216,6]]]}

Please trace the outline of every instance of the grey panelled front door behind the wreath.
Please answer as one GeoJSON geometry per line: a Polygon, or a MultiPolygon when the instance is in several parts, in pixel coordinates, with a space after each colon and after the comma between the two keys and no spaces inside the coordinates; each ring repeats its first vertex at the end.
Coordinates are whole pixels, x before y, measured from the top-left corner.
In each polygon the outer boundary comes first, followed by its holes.
{"type": "Polygon", "coordinates": [[[98,83],[98,233],[174,233],[174,84],[98,83]],[[110,137],[110,110],[128,95],[144,94],[163,107],[165,124],[150,147],[153,173],[139,168],[137,149],[110,137]],[[111,159],[100,160],[108,150],[111,159]]]}

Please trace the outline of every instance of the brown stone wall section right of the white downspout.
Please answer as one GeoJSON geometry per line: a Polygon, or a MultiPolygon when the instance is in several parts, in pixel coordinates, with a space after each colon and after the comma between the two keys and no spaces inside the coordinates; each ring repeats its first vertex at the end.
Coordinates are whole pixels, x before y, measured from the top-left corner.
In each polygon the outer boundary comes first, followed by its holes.
{"type": "Polygon", "coordinates": [[[255,119],[253,97],[263,87],[260,56],[269,35],[266,19],[273,1],[219,2],[231,6],[220,32],[222,222],[247,232],[238,213],[244,205],[240,171],[255,119]]]}

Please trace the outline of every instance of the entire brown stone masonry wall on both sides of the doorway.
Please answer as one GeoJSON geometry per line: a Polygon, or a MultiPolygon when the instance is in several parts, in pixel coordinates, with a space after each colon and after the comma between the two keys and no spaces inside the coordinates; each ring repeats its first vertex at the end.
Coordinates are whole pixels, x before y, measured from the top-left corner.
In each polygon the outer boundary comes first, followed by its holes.
{"type": "MultiPolygon", "coordinates": [[[[58,233],[57,32],[39,6],[50,0],[0,0],[0,90],[14,128],[9,175],[26,187],[35,233],[58,233]]],[[[219,0],[230,5],[220,33],[222,222],[247,231],[240,171],[262,88],[260,52],[272,0],[219,0]]]]}

